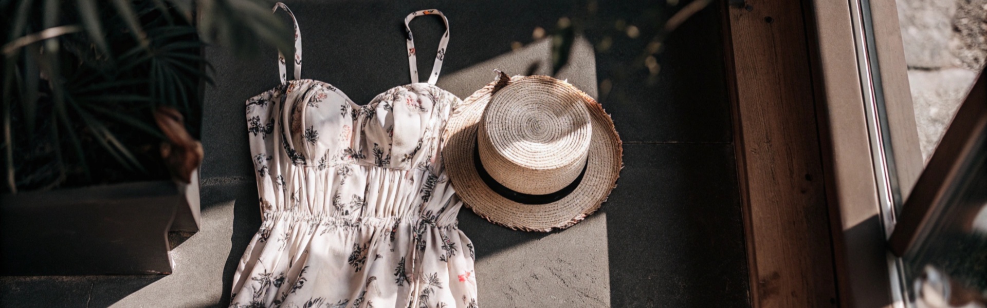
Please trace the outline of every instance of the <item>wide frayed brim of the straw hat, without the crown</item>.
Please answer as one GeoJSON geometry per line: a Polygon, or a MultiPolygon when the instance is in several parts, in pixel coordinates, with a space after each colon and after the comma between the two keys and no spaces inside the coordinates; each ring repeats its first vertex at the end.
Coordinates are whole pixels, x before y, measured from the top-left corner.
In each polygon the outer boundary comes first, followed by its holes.
{"type": "Polygon", "coordinates": [[[510,82],[538,78],[580,94],[590,114],[592,137],[586,171],[575,190],[545,204],[524,204],[501,196],[484,183],[474,162],[477,125],[493,97],[496,81],[466,98],[446,123],[442,160],[453,189],[464,204],[481,217],[507,228],[550,232],[566,229],[595,212],[617,185],[623,167],[623,148],[613,120],[588,95],[564,81],[548,76],[514,76],[510,82]]]}

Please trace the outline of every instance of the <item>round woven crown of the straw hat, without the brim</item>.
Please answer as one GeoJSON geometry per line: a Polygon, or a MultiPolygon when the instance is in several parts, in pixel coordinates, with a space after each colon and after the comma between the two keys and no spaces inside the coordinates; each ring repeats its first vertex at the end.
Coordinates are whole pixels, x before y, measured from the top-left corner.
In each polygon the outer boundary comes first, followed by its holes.
{"type": "Polygon", "coordinates": [[[504,187],[529,194],[569,186],[585,166],[592,136],[580,93],[540,79],[499,89],[478,128],[484,169],[504,187]]]}

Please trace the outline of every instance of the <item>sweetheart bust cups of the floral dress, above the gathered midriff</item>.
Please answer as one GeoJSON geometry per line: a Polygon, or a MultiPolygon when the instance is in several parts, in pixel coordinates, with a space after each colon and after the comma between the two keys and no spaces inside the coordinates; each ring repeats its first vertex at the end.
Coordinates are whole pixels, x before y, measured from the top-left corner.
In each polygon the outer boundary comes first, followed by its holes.
{"type": "Polygon", "coordinates": [[[292,80],[248,100],[248,131],[266,141],[265,151],[255,153],[261,174],[277,148],[296,167],[352,163],[411,170],[433,162],[438,130],[458,102],[434,85],[416,83],[359,106],[328,83],[292,80]]]}

